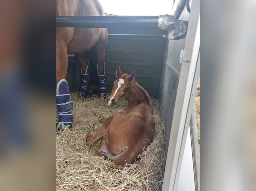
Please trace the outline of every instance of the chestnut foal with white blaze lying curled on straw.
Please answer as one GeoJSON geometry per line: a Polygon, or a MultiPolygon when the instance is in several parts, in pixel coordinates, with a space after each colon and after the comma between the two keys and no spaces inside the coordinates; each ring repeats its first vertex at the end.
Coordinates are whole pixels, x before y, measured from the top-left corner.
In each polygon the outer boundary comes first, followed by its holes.
{"type": "Polygon", "coordinates": [[[89,132],[86,144],[91,146],[102,137],[97,154],[123,166],[137,160],[143,147],[150,144],[155,122],[150,97],[134,80],[135,71],[128,76],[117,67],[116,76],[107,105],[114,105],[122,96],[127,99],[128,105],[123,111],[110,116],[97,131],[89,132]]]}

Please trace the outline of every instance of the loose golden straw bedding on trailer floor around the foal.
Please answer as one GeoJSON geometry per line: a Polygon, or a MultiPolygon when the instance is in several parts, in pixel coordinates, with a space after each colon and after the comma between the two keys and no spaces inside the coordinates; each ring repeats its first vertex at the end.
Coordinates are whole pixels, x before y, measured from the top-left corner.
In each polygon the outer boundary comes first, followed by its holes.
{"type": "Polygon", "coordinates": [[[73,129],[56,133],[56,190],[161,190],[164,165],[164,126],[159,100],[151,99],[155,119],[153,142],[141,159],[124,167],[96,154],[100,140],[87,147],[86,135],[97,130],[109,116],[121,111],[128,102],[121,98],[108,107],[97,95],[83,99],[71,94],[73,129]]]}

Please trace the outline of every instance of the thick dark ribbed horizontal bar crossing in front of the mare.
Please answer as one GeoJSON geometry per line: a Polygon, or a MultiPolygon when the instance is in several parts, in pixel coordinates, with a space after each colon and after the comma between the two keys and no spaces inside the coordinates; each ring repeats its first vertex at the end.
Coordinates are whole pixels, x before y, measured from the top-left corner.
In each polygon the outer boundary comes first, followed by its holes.
{"type": "Polygon", "coordinates": [[[157,29],[158,16],[56,16],[56,27],[157,29]]]}

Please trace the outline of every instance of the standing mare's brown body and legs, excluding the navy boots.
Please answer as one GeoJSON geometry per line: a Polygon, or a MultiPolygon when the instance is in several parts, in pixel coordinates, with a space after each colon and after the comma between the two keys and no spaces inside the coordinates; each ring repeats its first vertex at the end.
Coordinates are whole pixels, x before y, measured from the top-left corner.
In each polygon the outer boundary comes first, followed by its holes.
{"type": "MultiPolygon", "coordinates": [[[[56,0],[56,15],[101,16],[105,12],[98,0],[56,0]]],[[[68,54],[76,54],[83,74],[86,73],[85,51],[94,45],[97,51],[99,75],[104,75],[105,50],[108,43],[106,28],[56,27],[56,84],[66,79],[68,54]]],[[[101,99],[104,99],[101,96],[101,99]]]]}

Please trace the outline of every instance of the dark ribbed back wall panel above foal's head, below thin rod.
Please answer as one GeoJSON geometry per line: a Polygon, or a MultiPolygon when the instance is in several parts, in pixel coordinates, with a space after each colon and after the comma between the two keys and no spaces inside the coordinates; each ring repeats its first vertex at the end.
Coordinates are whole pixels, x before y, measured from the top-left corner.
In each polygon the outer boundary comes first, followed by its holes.
{"type": "Polygon", "coordinates": [[[136,80],[149,93],[158,98],[166,38],[111,37],[106,50],[106,83],[111,92],[116,80],[117,66],[123,73],[136,72],[136,80]]]}

